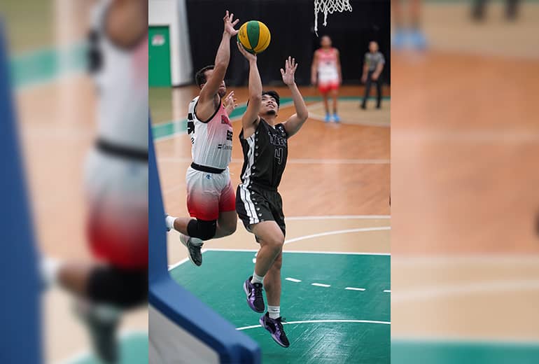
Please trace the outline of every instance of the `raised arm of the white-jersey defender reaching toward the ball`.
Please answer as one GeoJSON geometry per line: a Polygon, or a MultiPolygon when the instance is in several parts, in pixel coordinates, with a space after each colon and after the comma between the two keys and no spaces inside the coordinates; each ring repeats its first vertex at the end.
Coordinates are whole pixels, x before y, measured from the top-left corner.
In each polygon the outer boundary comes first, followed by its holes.
{"type": "Polygon", "coordinates": [[[200,91],[200,104],[214,101],[216,94],[218,93],[219,86],[225,79],[228,62],[230,61],[230,38],[238,33],[234,27],[239,22],[239,19],[234,20],[234,14],[229,15],[228,10],[225,18],[223,18],[223,22],[225,23],[225,29],[223,31],[223,38],[221,38],[221,44],[219,45],[217,55],[215,57],[214,72],[200,91]]]}

